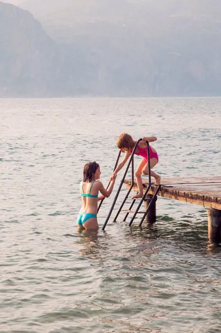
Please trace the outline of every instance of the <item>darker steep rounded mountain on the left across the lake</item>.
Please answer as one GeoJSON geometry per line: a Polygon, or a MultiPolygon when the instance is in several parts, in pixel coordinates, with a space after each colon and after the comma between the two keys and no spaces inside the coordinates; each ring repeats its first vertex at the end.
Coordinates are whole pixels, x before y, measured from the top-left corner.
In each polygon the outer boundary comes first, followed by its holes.
{"type": "Polygon", "coordinates": [[[0,2],[0,96],[58,93],[59,57],[56,43],[28,11],[0,2]]]}

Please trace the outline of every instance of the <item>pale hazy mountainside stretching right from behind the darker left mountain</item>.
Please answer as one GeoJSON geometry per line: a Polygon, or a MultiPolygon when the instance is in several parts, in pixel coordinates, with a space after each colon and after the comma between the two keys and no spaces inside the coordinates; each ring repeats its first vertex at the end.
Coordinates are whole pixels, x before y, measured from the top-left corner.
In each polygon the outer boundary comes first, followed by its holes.
{"type": "Polygon", "coordinates": [[[70,45],[91,93],[221,93],[220,0],[26,0],[22,8],[70,45]]]}

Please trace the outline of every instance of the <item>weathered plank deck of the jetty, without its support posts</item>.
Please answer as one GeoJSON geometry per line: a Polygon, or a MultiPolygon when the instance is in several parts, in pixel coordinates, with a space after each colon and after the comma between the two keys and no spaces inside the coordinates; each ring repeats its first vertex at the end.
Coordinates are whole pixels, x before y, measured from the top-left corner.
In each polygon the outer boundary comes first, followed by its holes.
{"type": "MultiPolygon", "coordinates": [[[[125,183],[129,189],[131,180],[125,180],[125,183]]],[[[162,183],[171,184],[171,186],[162,185],[159,196],[221,210],[221,177],[167,178],[163,179],[162,183]]],[[[148,179],[143,179],[144,191],[148,184],[148,179]]],[[[137,191],[136,183],[133,190],[137,191]]],[[[154,194],[154,192],[155,186],[152,185],[149,194],[154,194]]]]}

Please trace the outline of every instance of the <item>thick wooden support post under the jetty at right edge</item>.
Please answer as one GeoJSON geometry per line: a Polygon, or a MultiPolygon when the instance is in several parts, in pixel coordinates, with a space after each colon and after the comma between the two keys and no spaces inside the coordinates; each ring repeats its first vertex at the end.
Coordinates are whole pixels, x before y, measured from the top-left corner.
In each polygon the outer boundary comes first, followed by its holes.
{"type": "Polygon", "coordinates": [[[207,209],[208,238],[210,243],[221,242],[221,210],[207,209]]]}

